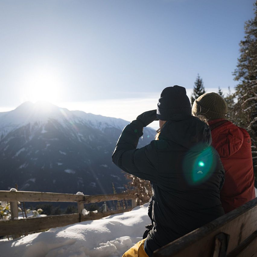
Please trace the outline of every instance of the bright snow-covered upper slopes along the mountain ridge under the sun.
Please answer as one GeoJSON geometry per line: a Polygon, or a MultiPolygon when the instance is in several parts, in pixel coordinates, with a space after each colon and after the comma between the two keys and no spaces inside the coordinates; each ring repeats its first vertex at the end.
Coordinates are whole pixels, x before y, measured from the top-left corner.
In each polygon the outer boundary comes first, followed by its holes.
{"type": "MultiPolygon", "coordinates": [[[[69,111],[66,108],[60,108],[48,102],[37,102],[35,104],[25,102],[10,112],[0,113],[0,138],[13,129],[29,123],[38,122],[39,124],[43,124],[49,119],[55,119],[62,125],[65,125],[68,120],[73,123],[87,124],[101,130],[106,127],[123,129],[128,124],[127,121],[122,119],[94,115],[83,111],[69,111]]],[[[42,128],[41,133],[46,132],[42,128]]]]}

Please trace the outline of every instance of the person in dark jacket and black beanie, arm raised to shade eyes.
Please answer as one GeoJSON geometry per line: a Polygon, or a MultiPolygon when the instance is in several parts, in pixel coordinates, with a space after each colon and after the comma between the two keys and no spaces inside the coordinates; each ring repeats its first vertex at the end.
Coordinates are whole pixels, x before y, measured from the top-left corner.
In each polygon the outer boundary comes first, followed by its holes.
{"type": "Polygon", "coordinates": [[[224,169],[211,147],[211,130],[191,116],[186,89],[165,88],[157,110],[142,113],[119,137],[113,162],[127,173],[149,180],[152,229],[123,256],[152,256],[167,243],[224,214],[220,190],[224,169]],[[143,128],[160,120],[158,140],[136,149],[143,128]],[[147,254],[147,255],[146,255],[147,254]]]}

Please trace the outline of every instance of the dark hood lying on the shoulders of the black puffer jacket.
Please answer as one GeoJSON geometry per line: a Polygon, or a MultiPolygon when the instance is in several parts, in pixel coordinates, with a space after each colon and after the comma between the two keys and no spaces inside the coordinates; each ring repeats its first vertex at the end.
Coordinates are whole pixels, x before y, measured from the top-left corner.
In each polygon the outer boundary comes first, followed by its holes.
{"type": "Polygon", "coordinates": [[[197,145],[201,148],[207,148],[211,145],[211,129],[205,123],[195,116],[174,115],[162,127],[160,140],[170,140],[187,149],[197,145]]]}

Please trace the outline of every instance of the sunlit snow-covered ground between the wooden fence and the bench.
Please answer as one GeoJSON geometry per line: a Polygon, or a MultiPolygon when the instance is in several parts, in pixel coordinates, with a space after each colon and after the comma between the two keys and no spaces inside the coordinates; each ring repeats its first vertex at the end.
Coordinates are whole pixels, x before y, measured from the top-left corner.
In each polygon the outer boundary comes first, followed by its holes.
{"type": "Polygon", "coordinates": [[[0,256],[120,257],[150,224],[148,203],[132,211],[0,242],[0,256]]]}

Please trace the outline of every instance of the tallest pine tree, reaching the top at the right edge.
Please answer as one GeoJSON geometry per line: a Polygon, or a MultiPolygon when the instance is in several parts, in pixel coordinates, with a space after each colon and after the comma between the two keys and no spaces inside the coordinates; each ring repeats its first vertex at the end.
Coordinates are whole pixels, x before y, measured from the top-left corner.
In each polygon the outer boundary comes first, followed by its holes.
{"type": "Polygon", "coordinates": [[[255,16],[245,23],[245,37],[240,42],[240,57],[234,71],[238,102],[235,104],[238,124],[249,132],[252,139],[252,155],[257,175],[257,1],[255,16]]]}

